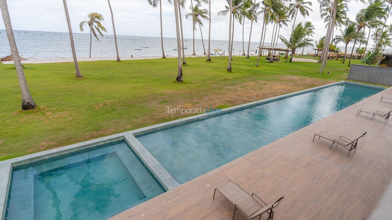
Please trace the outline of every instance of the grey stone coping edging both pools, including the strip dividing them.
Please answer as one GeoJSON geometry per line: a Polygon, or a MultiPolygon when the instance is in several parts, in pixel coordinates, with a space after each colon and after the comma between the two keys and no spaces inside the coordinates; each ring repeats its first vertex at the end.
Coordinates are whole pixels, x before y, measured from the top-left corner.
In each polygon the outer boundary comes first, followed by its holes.
{"type": "Polygon", "coordinates": [[[305,90],[300,90],[297,92],[283,94],[280,96],[270,97],[267,99],[261,99],[261,100],[253,101],[250,103],[232,106],[232,107],[223,109],[221,112],[214,112],[211,114],[209,114],[209,113],[198,114],[198,115],[194,115],[194,116],[190,116],[190,117],[185,117],[182,119],[177,119],[177,120],[173,120],[173,121],[169,121],[169,122],[165,122],[165,123],[147,126],[144,128],[138,128],[138,129],[131,130],[128,132],[117,133],[117,134],[109,135],[106,137],[100,137],[97,139],[83,141],[83,142],[79,142],[76,144],[63,146],[60,148],[54,148],[51,150],[41,151],[38,153],[25,155],[22,157],[16,157],[13,159],[0,161],[0,213],[1,213],[1,219],[4,219],[4,216],[5,216],[5,209],[7,206],[7,198],[8,198],[8,194],[9,194],[9,185],[10,185],[8,183],[11,180],[12,168],[14,166],[19,166],[19,165],[27,164],[29,162],[47,159],[50,157],[55,157],[58,155],[63,155],[66,153],[71,153],[71,152],[82,150],[85,148],[90,148],[90,147],[94,147],[94,146],[97,146],[100,144],[118,141],[118,140],[123,139],[129,145],[129,147],[132,150],[134,150],[134,152],[138,155],[138,157],[143,161],[143,163],[146,165],[146,168],[148,168],[151,171],[151,173],[153,173],[153,175],[156,177],[156,179],[162,184],[162,186],[167,191],[169,191],[171,189],[176,188],[177,186],[180,186],[180,184],[169,174],[169,172],[167,172],[167,170],[165,168],[163,168],[163,166],[158,162],[158,160],[156,160],[151,155],[151,153],[136,139],[137,136],[145,135],[145,134],[151,133],[151,132],[156,132],[158,130],[166,129],[166,128],[169,128],[172,126],[178,126],[180,124],[189,123],[189,122],[196,121],[199,119],[205,119],[205,118],[214,117],[214,116],[221,115],[221,114],[227,114],[229,112],[233,112],[236,110],[250,108],[253,106],[261,105],[263,103],[275,101],[275,100],[286,98],[286,97],[296,96],[296,95],[310,92],[313,90],[317,90],[320,88],[327,88],[327,87],[331,87],[331,86],[339,85],[339,84],[343,84],[343,83],[361,85],[361,86],[366,86],[366,87],[382,88],[383,90],[386,89],[385,87],[378,87],[378,86],[374,86],[374,85],[354,83],[354,82],[349,82],[349,81],[339,81],[339,82],[330,83],[327,85],[322,85],[322,86],[313,87],[313,88],[309,88],[309,89],[305,89],[305,90]],[[1,198],[3,198],[3,199],[1,199],[1,198]]]}

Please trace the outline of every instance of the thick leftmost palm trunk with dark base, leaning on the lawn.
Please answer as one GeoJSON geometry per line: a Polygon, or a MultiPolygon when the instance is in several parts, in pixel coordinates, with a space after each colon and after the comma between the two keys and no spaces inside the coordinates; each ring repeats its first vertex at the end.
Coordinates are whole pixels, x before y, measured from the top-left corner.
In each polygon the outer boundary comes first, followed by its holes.
{"type": "Polygon", "coordinates": [[[12,30],[11,17],[9,16],[8,12],[7,0],[0,0],[0,9],[3,16],[5,32],[7,32],[9,47],[11,49],[12,58],[15,64],[16,75],[18,75],[19,86],[22,92],[22,109],[30,110],[35,108],[37,105],[35,104],[33,97],[31,97],[29,86],[27,85],[27,81],[24,75],[23,66],[20,62],[19,51],[16,47],[14,32],[12,30]]]}

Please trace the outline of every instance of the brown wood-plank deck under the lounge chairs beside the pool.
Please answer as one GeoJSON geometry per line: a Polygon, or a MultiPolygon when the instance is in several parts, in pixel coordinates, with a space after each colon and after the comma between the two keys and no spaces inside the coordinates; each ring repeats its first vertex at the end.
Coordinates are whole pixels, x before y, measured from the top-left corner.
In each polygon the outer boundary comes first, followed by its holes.
{"type": "MultiPolygon", "coordinates": [[[[336,114],[302,128],[258,150],[135,206],[111,220],[229,220],[233,206],[221,195],[212,200],[214,188],[229,179],[248,193],[270,203],[281,196],[274,219],[366,219],[392,175],[392,121],[370,114],[356,116],[359,108],[392,109],[392,88],[360,101],[336,114]],[[325,131],[359,140],[356,153],[331,142],[315,139],[325,131]],[[207,186],[207,184],[209,186],[207,186]]],[[[240,147],[240,146],[239,146],[240,147]]],[[[245,216],[236,211],[236,220],[245,216]]]]}

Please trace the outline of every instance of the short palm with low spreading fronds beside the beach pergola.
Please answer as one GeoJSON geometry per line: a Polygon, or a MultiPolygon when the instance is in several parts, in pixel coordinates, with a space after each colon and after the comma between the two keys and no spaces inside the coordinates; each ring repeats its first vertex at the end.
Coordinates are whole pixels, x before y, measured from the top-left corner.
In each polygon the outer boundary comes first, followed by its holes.
{"type": "Polygon", "coordinates": [[[291,57],[289,62],[292,61],[293,55],[297,48],[312,45],[313,42],[313,40],[306,38],[306,30],[303,28],[302,22],[299,22],[298,25],[294,28],[289,40],[283,36],[279,36],[279,38],[287,46],[287,48],[291,49],[291,57]]]}

